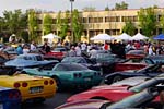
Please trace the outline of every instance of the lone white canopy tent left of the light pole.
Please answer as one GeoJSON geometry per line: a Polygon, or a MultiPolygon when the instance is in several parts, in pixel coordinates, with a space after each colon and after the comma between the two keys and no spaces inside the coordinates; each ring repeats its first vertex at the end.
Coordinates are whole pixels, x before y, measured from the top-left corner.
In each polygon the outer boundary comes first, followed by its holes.
{"type": "Polygon", "coordinates": [[[48,34],[48,35],[45,35],[45,36],[42,36],[43,39],[48,39],[48,43],[49,44],[52,44],[52,40],[54,39],[60,39],[61,37],[60,36],[57,36],[57,35],[54,35],[52,33],[48,34]]]}

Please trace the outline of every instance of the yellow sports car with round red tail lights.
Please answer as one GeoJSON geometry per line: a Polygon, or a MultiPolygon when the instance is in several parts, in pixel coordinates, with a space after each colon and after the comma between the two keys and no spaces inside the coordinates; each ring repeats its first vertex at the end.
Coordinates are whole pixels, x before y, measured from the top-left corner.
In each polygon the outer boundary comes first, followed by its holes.
{"type": "Polygon", "coordinates": [[[0,70],[0,86],[20,89],[22,101],[44,101],[56,94],[57,85],[50,77],[8,73],[2,74],[0,70]]]}

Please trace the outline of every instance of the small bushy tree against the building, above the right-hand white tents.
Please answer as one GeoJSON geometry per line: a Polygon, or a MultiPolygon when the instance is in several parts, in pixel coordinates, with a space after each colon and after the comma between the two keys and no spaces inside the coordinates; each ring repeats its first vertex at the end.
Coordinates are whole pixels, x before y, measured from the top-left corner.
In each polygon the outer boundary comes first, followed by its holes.
{"type": "Polygon", "coordinates": [[[133,36],[136,34],[134,33],[137,27],[133,25],[131,21],[129,21],[129,22],[126,22],[126,25],[124,26],[122,32],[133,36]]]}

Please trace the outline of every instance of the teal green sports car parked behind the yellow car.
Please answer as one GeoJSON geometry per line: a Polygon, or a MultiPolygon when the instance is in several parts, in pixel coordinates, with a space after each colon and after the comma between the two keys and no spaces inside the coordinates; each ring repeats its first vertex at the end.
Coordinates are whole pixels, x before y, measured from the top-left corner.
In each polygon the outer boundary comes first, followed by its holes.
{"type": "Polygon", "coordinates": [[[59,88],[90,88],[98,85],[103,75],[98,71],[89,70],[78,63],[47,64],[38,69],[24,69],[23,73],[49,76],[56,80],[59,88]]]}

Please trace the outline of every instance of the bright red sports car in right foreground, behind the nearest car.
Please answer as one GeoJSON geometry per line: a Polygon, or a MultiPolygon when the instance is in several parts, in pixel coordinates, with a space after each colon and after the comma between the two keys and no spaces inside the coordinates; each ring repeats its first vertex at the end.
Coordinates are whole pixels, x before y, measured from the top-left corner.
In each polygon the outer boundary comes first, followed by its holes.
{"type": "MultiPolygon", "coordinates": [[[[137,80],[134,80],[134,77],[132,77],[131,81],[128,80],[128,82],[134,82],[132,84],[119,82],[119,85],[103,85],[103,86],[93,87],[90,90],[73,95],[67,101],[70,102],[70,101],[86,100],[86,99],[103,99],[103,100],[109,100],[110,102],[116,102],[130,95],[139,93],[148,87],[156,86],[160,83],[164,82],[164,75],[163,77],[154,77],[149,80],[147,77],[141,77],[141,78],[142,80],[140,81],[139,77],[137,80]]],[[[159,102],[160,98],[156,97],[155,100],[153,101],[159,102]]]]}

